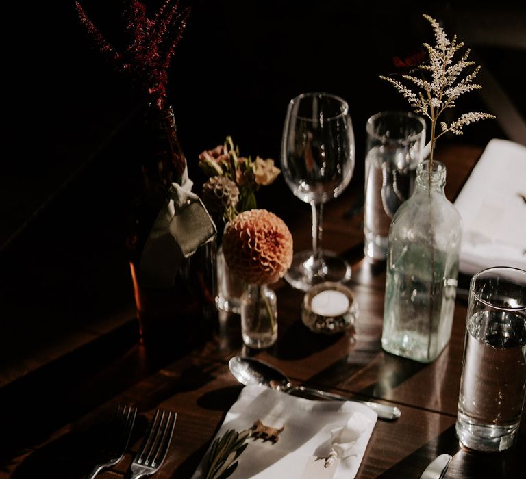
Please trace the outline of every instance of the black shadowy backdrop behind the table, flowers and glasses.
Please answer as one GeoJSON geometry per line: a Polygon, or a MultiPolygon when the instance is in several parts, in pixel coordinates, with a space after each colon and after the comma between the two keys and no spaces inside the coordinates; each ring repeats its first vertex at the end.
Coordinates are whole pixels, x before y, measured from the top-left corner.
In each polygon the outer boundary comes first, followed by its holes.
{"type": "MultiPolygon", "coordinates": [[[[150,12],[160,5],[146,3],[150,12]]],[[[168,97],[197,190],[203,181],[197,155],[227,135],[243,155],[273,157],[279,164],[286,105],[307,91],[348,101],[357,151],[350,187],[363,187],[368,116],[408,109],[379,75],[392,72],[393,55],[404,57],[434,42],[423,13],[442,21],[450,37],[457,33],[465,40],[522,120],[526,116],[524,2],[181,4],[192,12],[173,57],[168,97]]],[[[120,0],[82,5],[110,42],[121,42],[120,0]]],[[[12,33],[3,59],[0,333],[8,347],[0,356],[7,368],[0,376],[18,368],[14,376],[0,377],[9,380],[32,369],[26,359],[35,351],[39,361],[53,359],[62,339],[66,350],[74,349],[108,331],[116,315],[123,322],[134,314],[112,206],[129,200],[123,184],[136,168],[132,153],[140,138],[126,135],[138,99],[92,47],[73,1],[17,3],[5,21],[12,33]],[[82,334],[71,339],[68,328],[78,324],[82,334]]],[[[484,88],[490,91],[486,83],[484,88]]],[[[478,92],[459,101],[458,111],[494,112],[478,92]]],[[[490,138],[510,138],[504,119],[470,125],[465,135],[440,141],[484,146],[490,138]]],[[[279,212],[281,203],[305,207],[280,178],[260,192],[260,205],[277,205],[279,212]]]]}

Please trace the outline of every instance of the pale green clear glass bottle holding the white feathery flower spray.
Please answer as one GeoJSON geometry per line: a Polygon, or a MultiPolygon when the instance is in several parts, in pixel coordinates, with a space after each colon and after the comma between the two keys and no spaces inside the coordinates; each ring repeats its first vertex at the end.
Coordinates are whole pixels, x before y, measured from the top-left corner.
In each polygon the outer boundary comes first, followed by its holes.
{"type": "Polygon", "coordinates": [[[381,344],[422,363],[447,345],[455,308],[462,220],[445,181],[444,164],[419,164],[416,189],[389,229],[381,344]]]}

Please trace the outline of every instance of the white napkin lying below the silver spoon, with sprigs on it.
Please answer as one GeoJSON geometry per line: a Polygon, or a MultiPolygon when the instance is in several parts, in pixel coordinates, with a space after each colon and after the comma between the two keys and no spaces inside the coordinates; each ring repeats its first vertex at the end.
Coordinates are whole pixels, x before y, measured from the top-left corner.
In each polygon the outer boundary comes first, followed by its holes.
{"type": "MultiPolygon", "coordinates": [[[[284,426],[284,430],[275,444],[249,438],[231,479],[299,479],[313,456],[326,458],[332,450],[340,457],[334,479],[353,479],[377,414],[357,402],[313,401],[268,387],[246,386],[228,411],[216,437],[229,429],[240,432],[250,428],[256,419],[266,426],[284,426]]],[[[203,478],[202,464],[192,479],[203,478]]]]}

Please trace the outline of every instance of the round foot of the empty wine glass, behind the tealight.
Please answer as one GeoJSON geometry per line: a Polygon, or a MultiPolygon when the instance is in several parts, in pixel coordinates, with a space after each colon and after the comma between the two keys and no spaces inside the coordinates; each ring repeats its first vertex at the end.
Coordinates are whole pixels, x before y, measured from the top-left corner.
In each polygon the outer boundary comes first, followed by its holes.
{"type": "Polygon", "coordinates": [[[300,251],[292,258],[292,265],[285,274],[285,279],[292,287],[307,291],[310,287],[324,281],[344,282],[351,279],[351,266],[336,253],[323,250],[323,263],[316,272],[308,268],[312,261],[312,251],[300,251]]]}

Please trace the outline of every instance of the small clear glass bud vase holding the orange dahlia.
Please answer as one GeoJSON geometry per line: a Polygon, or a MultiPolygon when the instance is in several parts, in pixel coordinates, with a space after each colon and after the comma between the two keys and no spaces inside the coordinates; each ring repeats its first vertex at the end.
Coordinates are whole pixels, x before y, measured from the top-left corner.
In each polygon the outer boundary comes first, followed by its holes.
{"type": "Polygon", "coordinates": [[[249,348],[268,348],[276,342],[276,294],[267,285],[248,285],[242,294],[241,334],[249,348]]]}

